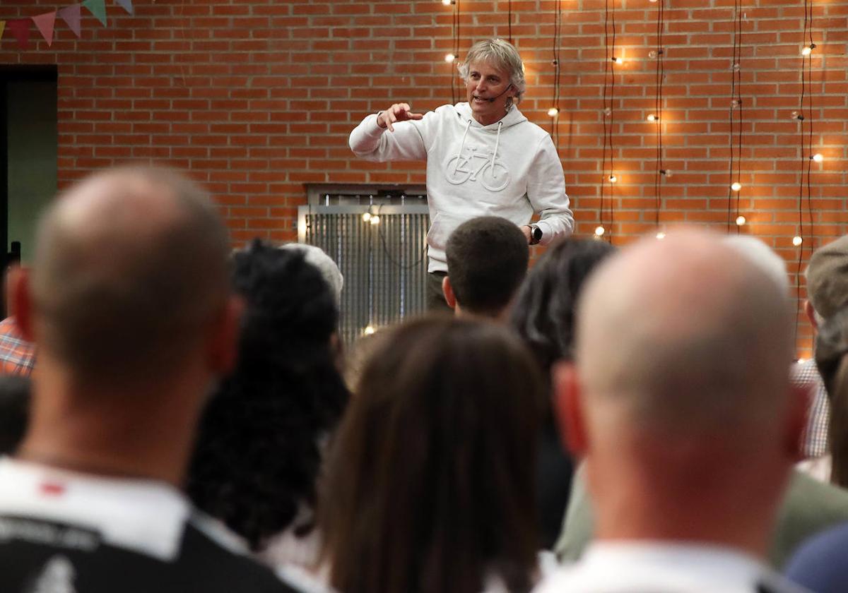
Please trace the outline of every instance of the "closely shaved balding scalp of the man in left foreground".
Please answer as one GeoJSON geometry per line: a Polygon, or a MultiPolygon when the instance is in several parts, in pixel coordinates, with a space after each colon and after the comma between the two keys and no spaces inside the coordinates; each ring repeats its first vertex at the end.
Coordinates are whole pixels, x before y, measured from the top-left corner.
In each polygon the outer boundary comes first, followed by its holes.
{"type": "Polygon", "coordinates": [[[170,169],[87,177],[39,224],[39,346],[86,376],[176,368],[226,302],[228,247],[209,197],[170,169]]]}

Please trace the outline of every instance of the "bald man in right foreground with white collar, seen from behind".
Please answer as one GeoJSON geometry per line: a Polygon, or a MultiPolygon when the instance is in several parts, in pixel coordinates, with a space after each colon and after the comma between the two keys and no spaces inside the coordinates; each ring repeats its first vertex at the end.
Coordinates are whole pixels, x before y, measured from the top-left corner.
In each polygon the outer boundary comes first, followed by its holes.
{"type": "Polygon", "coordinates": [[[793,590],[756,560],[804,422],[791,308],[737,256],[681,231],[589,280],[557,394],[596,541],[542,591],[793,590]]]}

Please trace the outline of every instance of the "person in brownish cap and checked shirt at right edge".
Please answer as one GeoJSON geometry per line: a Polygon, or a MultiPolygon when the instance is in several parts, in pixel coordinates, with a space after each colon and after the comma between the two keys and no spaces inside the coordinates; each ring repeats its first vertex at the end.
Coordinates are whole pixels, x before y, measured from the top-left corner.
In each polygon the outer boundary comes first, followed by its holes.
{"type": "MultiPolygon", "coordinates": [[[[806,268],[806,317],[813,332],[828,317],[848,306],[848,236],[817,249],[806,268]]],[[[812,386],[809,421],[804,435],[804,457],[828,452],[828,392],[813,358],[798,363],[796,385],[812,386]]]]}

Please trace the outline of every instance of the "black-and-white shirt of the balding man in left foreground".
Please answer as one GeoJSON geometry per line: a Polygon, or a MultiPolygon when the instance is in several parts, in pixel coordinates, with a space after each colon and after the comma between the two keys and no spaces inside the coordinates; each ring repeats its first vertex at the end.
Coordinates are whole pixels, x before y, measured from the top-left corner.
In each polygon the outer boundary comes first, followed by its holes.
{"type": "Polygon", "coordinates": [[[0,461],[0,591],[293,593],[269,568],[226,545],[226,535],[176,490],[145,483],[132,496],[131,480],[115,491],[117,481],[0,461]],[[21,496],[27,491],[30,500],[21,496]]]}

